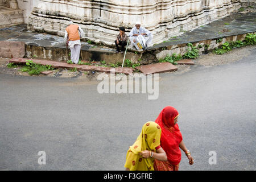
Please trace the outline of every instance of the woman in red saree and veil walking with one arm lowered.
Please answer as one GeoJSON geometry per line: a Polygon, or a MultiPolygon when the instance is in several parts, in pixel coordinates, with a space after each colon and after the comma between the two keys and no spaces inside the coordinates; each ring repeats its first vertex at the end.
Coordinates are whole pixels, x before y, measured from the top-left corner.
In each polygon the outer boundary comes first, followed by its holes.
{"type": "Polygon", "coordinates": [[[189,164],[192,165],[194,163],[191,152],[185,147],[179,126],[176,123],[178,116],[179,113],[174,107],[167,106],[164,107],[155,120],[162,129],[160,146],[166,151],[168,158],[167,162],[155,159],[155,171],[178,171],[181,160],[180,148],[187,155],[189,164]]]}

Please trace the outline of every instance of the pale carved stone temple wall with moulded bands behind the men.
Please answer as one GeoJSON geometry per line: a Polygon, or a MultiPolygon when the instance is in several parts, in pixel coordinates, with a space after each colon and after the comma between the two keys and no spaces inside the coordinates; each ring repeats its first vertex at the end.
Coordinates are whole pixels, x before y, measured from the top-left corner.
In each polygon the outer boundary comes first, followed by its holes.
{"type": "MultiPolygon", "coordinates": [[[[19,1],[19,0],[18,0],[19,1]]],[[[64,36],[67,22],[80,24],[85,37],[113,46],[118,27],[127,32],[142,22],[160,43],[184,31],[222,18],[255,0],[37,0],[28,28],[64,36]]]]}

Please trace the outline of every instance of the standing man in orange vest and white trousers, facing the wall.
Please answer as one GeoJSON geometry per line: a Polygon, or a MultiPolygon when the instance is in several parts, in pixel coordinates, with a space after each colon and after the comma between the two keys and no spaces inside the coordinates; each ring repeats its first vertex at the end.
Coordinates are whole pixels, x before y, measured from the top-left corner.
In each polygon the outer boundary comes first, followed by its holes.
{"type": "Polygon", "coordinates": [[[65,30],[64,42],[71,50],[72,63],[77,64],[79,62],[81,42],[80,38],[84,36],[84,31],[77,24],[69,22],[69,26],[65,30]]]}

